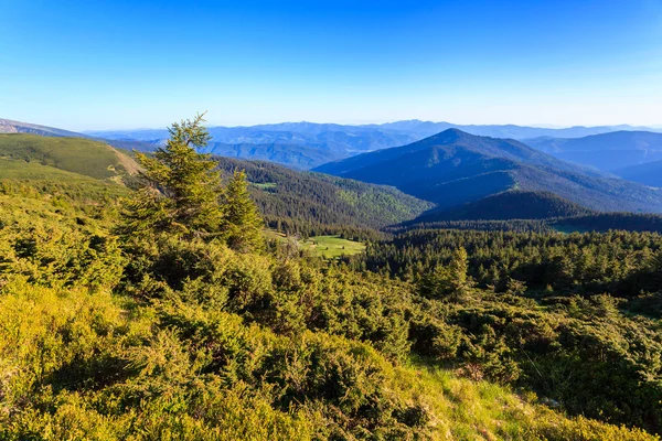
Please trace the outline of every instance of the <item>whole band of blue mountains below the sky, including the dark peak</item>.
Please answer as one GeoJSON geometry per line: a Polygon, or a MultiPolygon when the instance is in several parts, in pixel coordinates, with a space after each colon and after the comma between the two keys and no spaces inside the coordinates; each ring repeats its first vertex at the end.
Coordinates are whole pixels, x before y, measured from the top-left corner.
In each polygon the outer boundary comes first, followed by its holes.
{"type": "MultiPolygon", "coordinates": [[[[285,122],[212,127],[213,141],[203,151],[389,185],[434,204],[434,209],[420,217],[425,222],[540,219],[596,211],[662,212],[662,191],[653,189],[662,185],[655,176],[662,161],[638,168],[659,158],[662,133],[621,126],[461,126],[510,139],[472,135],[458,128],[436,132],[448,126],[453,125],[410,120],[365,126],[285,122]],[[604,132],[608,130],[612,131],[604,132]],[[598,135],[564,138],[586,133],[598,135]],[[618,170],[617,164],[621,165],[618,170]]],[[[168,136],[167,130],[76,133],[12,120],[0,120],[0,131],[77,137],[147,151],[156,149],[168,136]]],[[[248,163],[243,166],[254,170],[248,163]]],[[[288,175],[288,182],[310,179],[288,175]]],[[[404,201],[404,196],[398,197],[404,201]]]]}

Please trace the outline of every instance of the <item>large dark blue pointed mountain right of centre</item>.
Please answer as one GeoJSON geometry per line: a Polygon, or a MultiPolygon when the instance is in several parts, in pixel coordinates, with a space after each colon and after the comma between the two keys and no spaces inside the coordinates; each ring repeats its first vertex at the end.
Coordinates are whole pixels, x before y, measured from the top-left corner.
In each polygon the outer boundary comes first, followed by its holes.
{"type": "Polygon", "coordinates": [[[514,140],[476,137],[457,129],[314,170],[393,185],[440,209],[516,189],[551,192],[591,209],[662,211],[658,191],[606,178],[514,140]]]}

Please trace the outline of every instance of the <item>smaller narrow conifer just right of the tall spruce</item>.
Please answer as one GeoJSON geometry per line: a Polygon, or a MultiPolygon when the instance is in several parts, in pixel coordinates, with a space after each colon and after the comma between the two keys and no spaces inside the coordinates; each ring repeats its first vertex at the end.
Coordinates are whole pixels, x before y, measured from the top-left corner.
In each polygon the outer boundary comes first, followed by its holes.
{"type": "Polygon", "coordinates": [[[233,173],[225,194],[225,237],[227,245],[236,250],[246,251],[261,245],[264,222],[250,200],[246,172],[233,173]]]}

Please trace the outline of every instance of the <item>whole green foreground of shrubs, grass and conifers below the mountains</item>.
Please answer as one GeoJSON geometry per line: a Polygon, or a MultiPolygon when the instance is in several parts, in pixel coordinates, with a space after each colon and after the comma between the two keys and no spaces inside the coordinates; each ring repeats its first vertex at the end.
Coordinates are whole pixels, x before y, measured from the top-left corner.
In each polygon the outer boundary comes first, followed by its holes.
{"type": "Polygon", "coordinates": [[[447,226],[324,260],[265,239],[271,178],[197,153],[202,122],[128,185],[0,180],[0,439],[659,439],[658,233],[447,226]]]}

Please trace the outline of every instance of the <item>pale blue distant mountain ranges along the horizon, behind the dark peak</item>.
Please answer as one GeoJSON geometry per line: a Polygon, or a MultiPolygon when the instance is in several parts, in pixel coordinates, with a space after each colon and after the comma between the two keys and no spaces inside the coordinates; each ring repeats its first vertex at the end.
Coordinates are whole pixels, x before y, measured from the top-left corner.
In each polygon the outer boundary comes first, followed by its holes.
{"type": "MultiPolygon", "coordinates": [[[[453,125],[450,122],[431,122],[407,120],[387,122],[382,125],[337,125],[316,122],[281,122],[250,127],[210,127],[212,141],[205,152],[238,159],[265,160],[277,162],[293,169],[309,170],[325,162],[350,158],[359,153],[405,146],[439,133],[444,130],[456,128],[463,132],[493,138],[508,138],[524,140],[525,143],[578,163],[594,165],[590,153],[583,153],[580,148],[568,153],[565,150],[573,148],[569,138],[601,136],[602,133],[620,132],[622,137],[630,133],[633,138],[641,138],[642,130],[651,136],[662,131],[659,128],[640,128],[632,126],[600,126],[600,127],[572,127],[572,128],[538,128],[515,125],[453,125]],[[565,146],[567,144],[567,146],[565,146]],[[565,146],[565,147],[562,147],[565,146]]],[[[105,130],[86,131],[77,133],[13,120],[0,119],[0,132],[26,132],[41,136],[67,136],[104,140],[105,142],[124,149],[141,151],[154,150],[168,138],[164,129],[137,129],[137,130],[105,130]]],[[[662,133],[659,135],[662,137],[662,133]]],[[[607,137],[606,140],[609,138],[607,137]]],[[[595,142],[602,140],[597,138],[595,142]]],[[[619,143],[610,157],[619,154],[632,157],[634,162],[620,163],[619,166],[641,163],[636,158],[641,158],[641,143],[637,140],[619,143]],[[620,150],[634,150],[633,152],[619,152],[620,150]],[[619,150],[619,151],[617,151],[619,150]]],[[[651,154],[649,160],[654,160],[651,154]]],[[[661,158],[662,159],[662,158],[661,158]]],[[[598,164],[601,170],[611,170],[610,164],[598,164]]]]}

